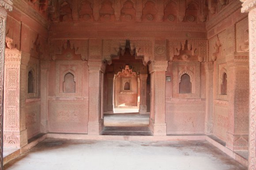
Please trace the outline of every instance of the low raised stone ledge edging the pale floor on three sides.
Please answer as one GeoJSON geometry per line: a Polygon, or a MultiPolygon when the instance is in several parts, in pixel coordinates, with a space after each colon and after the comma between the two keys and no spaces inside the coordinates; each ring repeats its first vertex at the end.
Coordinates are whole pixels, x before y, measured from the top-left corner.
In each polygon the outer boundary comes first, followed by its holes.
{"type": "Polygon", "coordinates": [[[116,135],[88,135],[88,134],[73,134],[73,133],[46,133],[31,141],[29,144],[22,148],[17,148],[15,152],[4,157],[4,165],[28,152],[35,145],[45,140],[46,138],[59,138],[59,139],[75,139],[75,140],[127,140],[127,141],[182,141],[182,140],[207,140],[210,144],[220,149],[222,152],[235,159],[237,162],[244,166],[248,166],[248,160],[246,157],[239,155],[236,152],[231,151],[229,148],[223,146],[222,143],[218,143],[218,140],[213,139],[211,136],[202,134],[192,135],[169,135],[169,136],[116,136],[116,135]]]}

